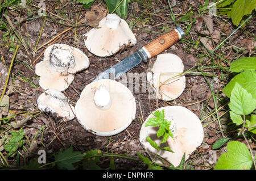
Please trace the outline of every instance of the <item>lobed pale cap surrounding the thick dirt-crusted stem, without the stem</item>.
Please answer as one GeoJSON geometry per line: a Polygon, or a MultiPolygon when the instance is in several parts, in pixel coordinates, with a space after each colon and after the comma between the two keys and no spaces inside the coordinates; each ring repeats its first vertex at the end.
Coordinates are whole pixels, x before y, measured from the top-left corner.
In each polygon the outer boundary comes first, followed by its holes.
{"type": "Polygon", "coordinates": [[[88,57],[81,50],[65,44],[53,44],[47,47],[44,52],[44,60],[36,64],[35,74],[40,76],[39,85],[44,90],[55,89],[64,91],[72,83],[74,79],[73,74],[88,68],[89,64],[88,57]],[[75,66],[73,68],[69,67],[67,73],[61,74],[59,71],[53,71],[50,68],[50,54],[53,48],[66,49],[72,52],[75,58],[75,66]]]}

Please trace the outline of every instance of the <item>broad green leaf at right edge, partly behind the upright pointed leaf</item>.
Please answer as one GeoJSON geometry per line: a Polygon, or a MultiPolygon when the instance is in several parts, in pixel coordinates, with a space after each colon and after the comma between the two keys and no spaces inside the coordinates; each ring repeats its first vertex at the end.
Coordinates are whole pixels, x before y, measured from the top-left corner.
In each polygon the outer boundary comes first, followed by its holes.
{"type": "Polygon", "coordinates": [[[230,98],[231,96],[231,91],[234,88],[234,85],[239,83],[243,89],[245,89],[247,92],[249,92],[252,96],[253,99],[256,99],[256,73],[253,70],[245,70],[242,71],[240,74],[237,74],[234,78],[230,80],[228,85],[224,87],[222,92],[226,94],[230,98]]]}

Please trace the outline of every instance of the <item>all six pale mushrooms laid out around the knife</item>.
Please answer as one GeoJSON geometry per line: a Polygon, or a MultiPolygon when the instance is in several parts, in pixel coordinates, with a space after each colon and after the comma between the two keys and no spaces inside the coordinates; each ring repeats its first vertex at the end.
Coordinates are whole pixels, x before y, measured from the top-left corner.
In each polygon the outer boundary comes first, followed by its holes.
{"type": "MultiPolygon", "coordinates": [[[[108,14],[100,21],[98,28],[92,28],[85,34],[84,42],[91,53],[107,57],[123,47],[136,44],[137,40],[125,20],[108,14]]],[[[69,104],[62,92],[71,85],[75,74],[87,69],[89,64],[88,57],[77,48],[65,44],[50,45],[44,52],[44,60],[35,66],[35,73],[40,77],[39,85],[46,90],[38,97],[38,109],[56,113],[66,120],[76,117],[82,127],[98,136],[118,134],[129,127],[136,114],[135,98],[126,86],[111,79],[89,83],[82,90],[75,107],[69,104]]],[[[156,98],[173,100],[179,97],[185,88],[182,73],[183,62],[178,56],[159,54],[147,73],[147,81],[154,87],[156,98]]],[[[174,138],[169,138],[167,144],[175,153],[161,150],[158,154],[177,166],[184,153],[187,159],[201,145],[203,127],[199,118],[185,107],[168,106],[158,110],[162,109],[165,117],[174,123],[174,138]]],[[[148,116],[147,120],[152,116],[148,116]]],[[[139,140],[152,156],[156,149],[146,141],[146,137],[150,136],[156,142],[160,140],[154,127],[144,127],[147,120],[142,125],[139,140]]]]}

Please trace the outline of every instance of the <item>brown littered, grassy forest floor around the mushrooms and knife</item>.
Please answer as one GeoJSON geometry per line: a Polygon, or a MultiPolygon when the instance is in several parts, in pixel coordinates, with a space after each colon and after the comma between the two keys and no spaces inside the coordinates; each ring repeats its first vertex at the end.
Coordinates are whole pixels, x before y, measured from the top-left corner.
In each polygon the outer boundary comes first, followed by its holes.
{"type": "MultiPolygon", "coordinates": [[[[233,134],[227,129],[230,123],[228,100],[222,93],[222,89],[232,78],[228,67],[238,57],[255,56],[255,17],[245,27],[236,30],[237,27],[233,26],[226,15],[211,15],[209,10],[203,9],[203,0],[170,2],[175,23],[186,32],[186,36],[164,53],[176,54],[183,60],[184,71],[191,70],[185,74],[185,90],[179,98],[170,102],[148,98],[152,92],[134,92],[137,106],[134,121],[125,131],[110,137],[87,132],[76,118],[66,121],[55,114],[39,111],[36,100],[44,90],[39,86],[39,77],[34,72],[35,65],[43,60],[44,50],[55,43],[76,47],[88,56],[89,68],[76,73],[71,86],[64,91],[72,106],[75,106],[81,91],[99,73],[156,37],[175,29],[168,1],[131,1],[126,22],[133,31],[137,44],[110,57],[94,56],[86,49],[83,37],[92,26],[97,26],[99,17],[104,17],[108,12],[104,1],[96,0],[90,9],[84,9],[76,1],[44,1],[46,16],[39,15],[42,12],[39,1],[29,2],[25,8],[13,5],[2,9],[5,15],[1,16],[0,24],[0,94],[5,91],[10,104],[8,113],[2,113],[0,117],[0,138],[3,140],[12,131],[22,129],[24,142],[14,155],[7,156],[8,151],[4,149],[0,139],[0,166],[28,165],[33,158],[38,158],[37,153],[42,149],[47,153],[47,162],[51,162],[54,153],[72,147],[74,151],[99,149],[105,154],[116,155],[100,159],[97,164],[104,169],[110,167],[113,158],[117,169],[147,169],[147,165],[137,161],[138,152],[148,157],[139,142],[143,121],[160,107],[184,106],[199,117],[204,129],[203,143],[187,159],[186,169],[213,169],[226,147],[224,145],[213,150],[212,145],[220,138],[233,134]],[[89,11],[93,11],[96,16],[88,14],[89,11]],[[234,31],[236,32],[232,34],[234,31]],[[218,47],[220,44],[222,46],[218,47]],[[19,47],[15,53],[16,45],[19,47]],[[7,77],[9,82],[6,85],[7,77]],[[30,119],[19,128],[12,126],[13,121],[24,120],[28,116],[30,119]]],[[[146,72],[155,59],[156,57],[150,58],[147,64],[142,62],[129,72],[146,72]]],[[[242,138],[238,139],[243,141],[242,138]]]]}

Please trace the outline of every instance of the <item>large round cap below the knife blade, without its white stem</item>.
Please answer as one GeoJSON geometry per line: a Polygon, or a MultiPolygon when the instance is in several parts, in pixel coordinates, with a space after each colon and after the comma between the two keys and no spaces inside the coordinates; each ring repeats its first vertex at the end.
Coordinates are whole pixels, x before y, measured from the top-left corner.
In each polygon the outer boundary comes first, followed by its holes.
{"type": "Polygon", "coordinates": [[[82,127],[98,136],[112,136],[126,129],[135,119],[136,103],[131,91],[122,83],[100,79],[85,86],[75,106],[82,127]],[[111,105],[102,110],[94,103],[94,93],[104,85],[111,105]]]}

